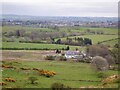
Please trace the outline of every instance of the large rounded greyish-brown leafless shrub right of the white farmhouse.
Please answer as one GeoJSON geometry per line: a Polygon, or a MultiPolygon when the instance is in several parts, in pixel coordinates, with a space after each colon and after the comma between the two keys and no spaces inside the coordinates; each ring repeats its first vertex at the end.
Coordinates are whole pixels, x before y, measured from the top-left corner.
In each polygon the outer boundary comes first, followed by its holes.
{"type": "Polygon", "coordinates": [[[97,71],[108,70],[107,60],[100,56],[93,57],[93,60],[91,61],[91,65],[97,71]]]}

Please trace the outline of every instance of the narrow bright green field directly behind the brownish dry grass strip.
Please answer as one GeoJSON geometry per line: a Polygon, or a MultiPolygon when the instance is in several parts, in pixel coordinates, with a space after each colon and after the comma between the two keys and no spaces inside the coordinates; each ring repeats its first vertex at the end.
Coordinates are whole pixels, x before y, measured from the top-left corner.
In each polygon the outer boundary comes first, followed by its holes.
{"type": "MultiPolygon", "coordinates": [[[[65,49],[68,45],[59,44],[34,44],[34,43],[18,43],[18,42],[3,42],[3,49],[34,49],[34,50],[55,50],[55,49],[65,49]]],[[[70,46],[71,50],[84,49],[80,46],[70,46]]]]}

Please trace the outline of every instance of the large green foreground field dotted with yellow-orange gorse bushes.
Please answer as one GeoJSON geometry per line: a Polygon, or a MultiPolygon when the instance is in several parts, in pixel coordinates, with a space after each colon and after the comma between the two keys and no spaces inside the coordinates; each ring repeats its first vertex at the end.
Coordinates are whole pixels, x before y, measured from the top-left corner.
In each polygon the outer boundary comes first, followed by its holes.
{"type": "MultiPolygon", "coordinates": [[[[63,83],[72,88],[79,88],[81,86],[99,86],[101,82],[86,82],[78,80],[101,80],[97,77],[97,73],[91,69],[90,64],[77,62],[60,62],[60,61],[4,61],[4,64],[12,65],[16,69],[4,68],[2,71],[2,78],[11,77],[16,82],[6,82],[7,85],[3,87],[8,88],[50,88],[55,82],[63,83]],[[21,67],[30,68],[31,70],[20,70],[21,67]],[[32,68],[39,68],[44,70],[52,70],[57,74],[53,77],[47,78],[40,76],[32,68]],[[30,84],[29,77],[36,77],[37,84],[30,84]]],[[[106,71],[107,75],[117,74],[117,71],[106,71]]],[[[113,84],[112,87],[117,87],[113,84]]]]}

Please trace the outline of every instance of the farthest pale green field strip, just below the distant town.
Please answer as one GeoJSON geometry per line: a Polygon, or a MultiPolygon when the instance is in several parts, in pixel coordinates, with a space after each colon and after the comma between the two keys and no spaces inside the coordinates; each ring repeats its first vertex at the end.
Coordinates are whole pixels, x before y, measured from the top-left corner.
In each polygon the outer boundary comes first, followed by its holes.
{"type": "MultiPolygon", "coordinates": [[[[103,31],[104,34],[118,34],[118,29],[117,28],[87,28],[87,27],[64,27],[60,28],[60,32],[66,32],[66,33],[80,33],[84,32],[86,30],[91,30],[91,31],[103,31]]],[[[48,32],[56,32],[56,30],[50,29],[50,28],[37,28],[37,27],[30,27],[30,26],[3,26],[2,27],[3,31],[15,31],[15,30],[26,30],[27,32],[29,31],[48,31],[48,32]]]]}

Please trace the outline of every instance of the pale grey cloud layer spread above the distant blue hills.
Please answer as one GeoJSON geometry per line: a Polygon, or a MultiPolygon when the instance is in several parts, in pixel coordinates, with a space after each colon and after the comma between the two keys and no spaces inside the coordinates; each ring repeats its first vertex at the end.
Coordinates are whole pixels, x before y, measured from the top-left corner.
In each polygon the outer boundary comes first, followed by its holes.
{"type": "Polygon", "coordinates": [[[36,16],[117,16],[117,4],[108,2],[77,4],[19,4],[3,3],[3,14],[36,15],[36,16]]]}

